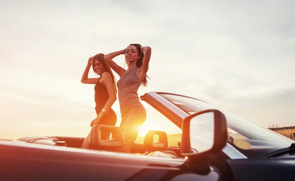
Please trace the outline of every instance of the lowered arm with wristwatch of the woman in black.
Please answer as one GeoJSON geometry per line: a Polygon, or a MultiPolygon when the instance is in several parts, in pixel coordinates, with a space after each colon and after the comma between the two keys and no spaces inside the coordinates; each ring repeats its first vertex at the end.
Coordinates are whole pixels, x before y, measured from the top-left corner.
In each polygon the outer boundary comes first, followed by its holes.
{"type": "MultiPolygon", "coordinates": [[[[112,77],[111,74],[108,72],[104,72],[101,76],[101,80],[103,81],[103,83],[106,85],[108,93],[109,93],[109,99],[106,102],[106,104],[104,105],[103,109],[105,109],[106,111],[109,111],[109,109],[112,107],[112,105],[116,102],[117,100],[117,96],[116,96],[116,91],[115,91],[115,87],[112,81],[112,77]]],[[[95,124],[99,123],[99,120],[104,116],[104,112],[101,110],[99,112],[99,114],[97,115],[97,117],[91,122],[90,126],[92,127],[95,124]]]]}

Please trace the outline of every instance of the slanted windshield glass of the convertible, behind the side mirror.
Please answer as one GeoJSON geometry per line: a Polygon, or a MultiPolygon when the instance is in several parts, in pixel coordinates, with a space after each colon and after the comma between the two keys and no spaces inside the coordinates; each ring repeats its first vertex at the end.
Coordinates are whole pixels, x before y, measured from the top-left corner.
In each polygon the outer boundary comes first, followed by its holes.
{"type": "Polygon", "coordinates": [[[202,108],[199,109],[199,111],[206,109],[220,110],[226,116],[228,128],[240,133],[241,135],[244,135],[246,138],[249,138],[248,140],[259,140],[260,142],[262,142],[262,144],[265,144],[263,145],[264,147],[279,149],[289,147],[292,143],[295,143],[295,141],[290,138],[287,138],[272,130],[263,128],[249,120],[238,117],[233,113],[220,109],[205,101],[179,94],[164,92],[157,92],[157,94],[176,105],[179,109],[186,112],[188,115],[198,112],[196,111],[197,105],[202,105],[202,108]],[[188,101],[185,101],[184,99],[187,99],[190,102],[188,103],[188,101]],[[194,105],[192,105],[192,102],[194,102],[194,105]],[[244,126],[243,124],[245,124],[246,126],[244,126]]]}

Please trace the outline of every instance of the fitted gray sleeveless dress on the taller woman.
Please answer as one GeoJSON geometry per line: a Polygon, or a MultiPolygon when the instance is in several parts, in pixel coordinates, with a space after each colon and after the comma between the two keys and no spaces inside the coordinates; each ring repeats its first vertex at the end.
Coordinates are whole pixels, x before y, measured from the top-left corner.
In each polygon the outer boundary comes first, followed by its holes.
{"type": "Polygon", "coordinates": [[[138,69],[139,68],[131,69],[117,82],[118,101],[122,118],[120,129],[125,127],[141,126],[147,117],[146,109],[140,102],[137,94],[137,91],[142,83],[136,75],[136,71],[138,69]]]}

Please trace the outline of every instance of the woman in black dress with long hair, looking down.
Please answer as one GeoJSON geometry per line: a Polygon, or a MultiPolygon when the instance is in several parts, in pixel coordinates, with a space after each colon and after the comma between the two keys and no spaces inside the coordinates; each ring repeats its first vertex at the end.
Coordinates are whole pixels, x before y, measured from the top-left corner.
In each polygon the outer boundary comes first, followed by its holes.
{"type": "MultiPolygon", "coordinates": [[[[106,63],[103,53],[96,54],[89,58],[81,82],[95,84],[94,100],[97,117],[92,120],[90,126],[92,127],[96,124],[115,126],[117,123],[117,115],[112,109],[112,105],[117,100],[116,79],[110,66],[106,63]],[[94,73],[99,75],[99,78],[88,78],[91,65],[94,73]]],[[[104,132],[101,135],[102,140],[108,140],[109,137],[109,132],[104,132]]],[[[88,144],[87,136],[81,148],[89,148],[88,144]]]]}

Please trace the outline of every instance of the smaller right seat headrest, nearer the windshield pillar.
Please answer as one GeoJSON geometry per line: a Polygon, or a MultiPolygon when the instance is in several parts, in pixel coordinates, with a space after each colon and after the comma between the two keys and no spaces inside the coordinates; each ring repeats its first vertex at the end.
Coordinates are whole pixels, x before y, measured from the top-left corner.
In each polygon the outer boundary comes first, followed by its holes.
{"type": "Polygon", "coordinates": [[[168,147],[167,133],[165,131],[160,131],[160,130],[149,130],[144,140],[144,147],[146,148],[147,151],[160,150],[160,149],[167,148],[168,147]],[[159,141],[156,143],[153,142],[154,135],[159,136],[159,141]]]}

